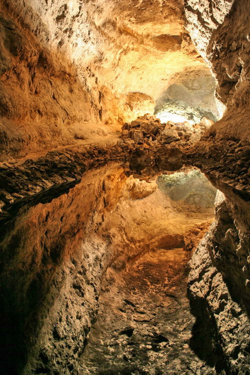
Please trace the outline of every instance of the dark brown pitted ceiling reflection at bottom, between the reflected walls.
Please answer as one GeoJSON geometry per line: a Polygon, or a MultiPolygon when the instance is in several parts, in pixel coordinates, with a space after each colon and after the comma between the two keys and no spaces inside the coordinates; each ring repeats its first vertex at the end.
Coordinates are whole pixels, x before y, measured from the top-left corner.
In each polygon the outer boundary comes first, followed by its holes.
{"type": "Polygon", "coordinates": [[[109,270],[79,375],[212,375],[190,349],[194,317],[186,296],[187,252],[146,253],[109,270]]]}

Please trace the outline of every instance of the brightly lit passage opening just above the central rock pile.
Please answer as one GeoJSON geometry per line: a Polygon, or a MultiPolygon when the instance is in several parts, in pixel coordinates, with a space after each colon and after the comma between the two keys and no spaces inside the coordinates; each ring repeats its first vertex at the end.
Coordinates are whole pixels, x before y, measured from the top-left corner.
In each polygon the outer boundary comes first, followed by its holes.
{"type": "Polygon", "coordinates": [[[215,79],[208,68],[186,68],[173,75],[156,100],[154,114],[162,123],[199,124],[218,121],[223,113],[215,97],[215,79]]]}

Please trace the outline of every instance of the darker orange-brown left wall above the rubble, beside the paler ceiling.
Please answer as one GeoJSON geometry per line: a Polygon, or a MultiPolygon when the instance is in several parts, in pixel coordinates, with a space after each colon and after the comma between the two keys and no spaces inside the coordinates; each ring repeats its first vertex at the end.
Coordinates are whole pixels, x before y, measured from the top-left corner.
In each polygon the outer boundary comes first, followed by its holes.
{"type": "Polygon", "coordinates": [[[0,33],[1,160],[73,144],[94,131],[99,108],[74,67],[3,13],[0,33]]]}

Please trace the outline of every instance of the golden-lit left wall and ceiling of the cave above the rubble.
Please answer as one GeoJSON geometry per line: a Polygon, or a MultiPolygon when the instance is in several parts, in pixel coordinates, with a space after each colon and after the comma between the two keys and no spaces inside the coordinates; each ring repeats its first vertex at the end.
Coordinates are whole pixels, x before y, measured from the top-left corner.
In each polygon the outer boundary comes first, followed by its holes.
{"type": "Polygon", "coordinates": [[[0,11],[1,160],[104,139],[153,113],[176,73],[204,67],[181,1],[4,0],[0,11]]]}

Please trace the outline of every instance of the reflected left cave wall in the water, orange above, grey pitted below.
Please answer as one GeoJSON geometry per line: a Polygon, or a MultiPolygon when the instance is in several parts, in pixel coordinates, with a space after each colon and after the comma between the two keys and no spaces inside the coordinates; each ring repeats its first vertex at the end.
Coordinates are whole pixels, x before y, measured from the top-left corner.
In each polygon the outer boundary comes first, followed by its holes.
{"type": "Polygon", "coordinates": [[[127,180],[117,165],[97,168],[68,193],[24,207],[5,223],[2,374],[77,373],[114,256],[99,229],[127,180]]]}

